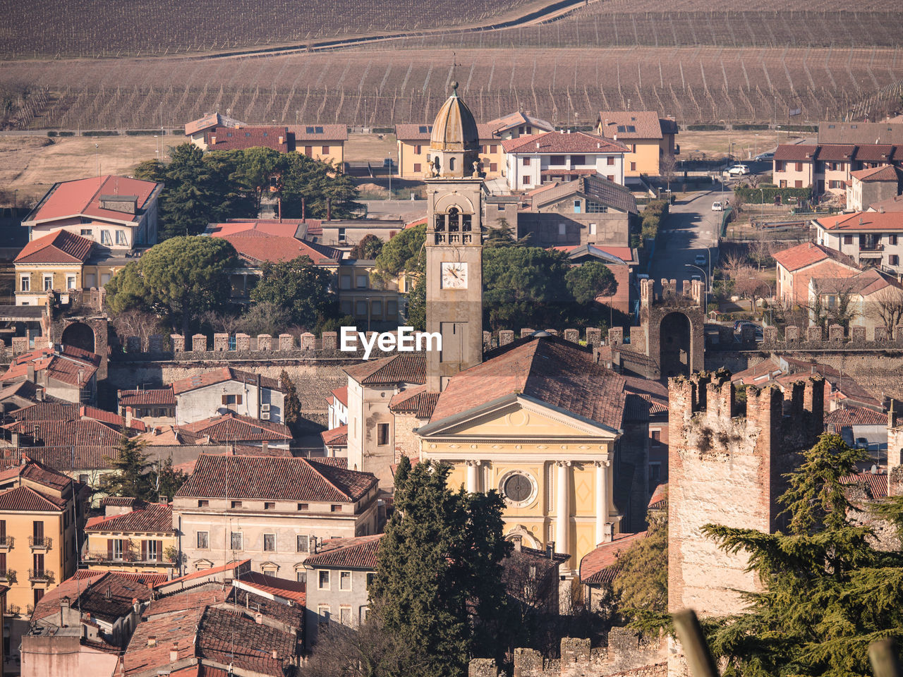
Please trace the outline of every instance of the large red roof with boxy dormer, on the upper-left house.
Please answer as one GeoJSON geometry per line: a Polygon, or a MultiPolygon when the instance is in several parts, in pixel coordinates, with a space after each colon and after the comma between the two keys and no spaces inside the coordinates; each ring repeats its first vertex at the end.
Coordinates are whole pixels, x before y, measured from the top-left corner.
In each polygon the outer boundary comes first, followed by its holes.
{"type": "Polygon", "coordinates": [[[78,181],[55,183],[25,220],[48,221],[74,216],[96,217],[114,221],[137,222],[140,215],[113,209],[102,209],[101,196],[135,197],[138,209],[149,207],[163,190],[163,183],[128,179],[125,176],[97,176],[78,181]]]}

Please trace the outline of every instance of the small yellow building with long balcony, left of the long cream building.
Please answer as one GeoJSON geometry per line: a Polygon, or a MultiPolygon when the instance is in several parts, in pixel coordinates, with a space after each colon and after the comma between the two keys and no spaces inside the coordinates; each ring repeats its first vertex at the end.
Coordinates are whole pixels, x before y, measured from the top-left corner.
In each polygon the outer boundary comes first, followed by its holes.
{"type": "Polygon", "coordinates": [[[88,569],[168,573],[178,564],[172,505],[107,496],[104,506],[85,525],[88,569]]]}

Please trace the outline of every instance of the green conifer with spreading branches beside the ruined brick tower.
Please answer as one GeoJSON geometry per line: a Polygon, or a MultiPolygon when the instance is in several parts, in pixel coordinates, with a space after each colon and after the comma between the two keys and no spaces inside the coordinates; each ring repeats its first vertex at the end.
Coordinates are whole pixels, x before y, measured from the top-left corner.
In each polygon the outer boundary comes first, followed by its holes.
{"type": "MultiPolygon", "coordinates": [[[[787,533],[704,527],[725,552],[746,552],[765,588],[745,595],[748,613],[712,624],[724,675],[868,675],[870,642],[903,635],[903,555],[877,550],[871,529],[848,516],[842,478],[866,458],[824,433],[786,476],[787,533]]],[[[903,503],[886,512],[899,524],[903,503]]]]}

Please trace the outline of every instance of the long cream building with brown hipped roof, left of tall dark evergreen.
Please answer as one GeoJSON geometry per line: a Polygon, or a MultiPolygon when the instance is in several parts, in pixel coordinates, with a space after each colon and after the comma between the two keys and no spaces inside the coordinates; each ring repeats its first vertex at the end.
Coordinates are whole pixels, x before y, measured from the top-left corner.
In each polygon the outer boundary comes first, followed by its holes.
{"type": "Polygon", "coordinates": [[[303,580],[312,539],[376,533],[377,478],[339,460],[201,454],[172,502],[183,570],[249,558],[303,580]]]}

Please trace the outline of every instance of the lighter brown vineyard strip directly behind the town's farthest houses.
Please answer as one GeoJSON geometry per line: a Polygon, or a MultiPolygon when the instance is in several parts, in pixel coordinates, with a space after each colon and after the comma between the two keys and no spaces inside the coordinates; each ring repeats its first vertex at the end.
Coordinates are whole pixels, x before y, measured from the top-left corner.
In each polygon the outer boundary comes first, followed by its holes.
{"type": "Polygon", "coordinates": [[[0,63],[0,88],[28,88],[7,126],[39,129],[172,128],[211,111],[248,124],[428,123],[453,78],[481,121],[521,109],[591,125],[599,110],[629,108],[681,124],[780,124],[792,108],[802,122],[898,106],[903,50],[421,49],[0,63]]]}

